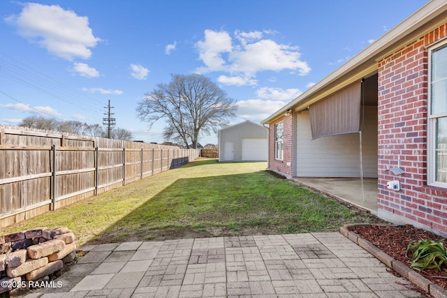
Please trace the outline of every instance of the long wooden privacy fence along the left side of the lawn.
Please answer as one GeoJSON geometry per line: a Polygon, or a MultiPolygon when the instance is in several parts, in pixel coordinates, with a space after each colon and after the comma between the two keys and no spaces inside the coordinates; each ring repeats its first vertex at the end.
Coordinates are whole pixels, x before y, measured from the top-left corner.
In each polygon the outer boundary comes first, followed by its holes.
{"type": "Polygon", "coordinates": [[[199,155],[198,149],[0,126],[0,228],[199,155]]]}

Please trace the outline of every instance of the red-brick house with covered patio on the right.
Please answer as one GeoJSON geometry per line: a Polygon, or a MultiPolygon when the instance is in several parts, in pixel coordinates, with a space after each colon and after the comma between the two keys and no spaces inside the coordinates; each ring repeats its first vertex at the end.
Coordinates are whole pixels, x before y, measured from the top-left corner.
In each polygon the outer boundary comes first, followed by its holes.
{"type": "Polygon", "coordinates": [[[270,170],[376,178],[379,217],[445,237],[447,1],[428,1],[262,123],[270,170]]]}

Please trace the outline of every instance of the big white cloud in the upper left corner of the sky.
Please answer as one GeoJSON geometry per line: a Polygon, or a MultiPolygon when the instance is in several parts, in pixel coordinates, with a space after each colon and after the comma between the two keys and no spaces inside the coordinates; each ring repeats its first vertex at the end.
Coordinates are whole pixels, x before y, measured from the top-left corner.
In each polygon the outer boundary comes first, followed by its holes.
{"type": "Polygon", "coordinates": [[[75,57],[88,59],[90,49],[101,41],[93,35],[88,17],[57,5],[25,3],[19,15],[10,15],[5,20],[17,27],[20,36],[69,61],[75,57]]]}

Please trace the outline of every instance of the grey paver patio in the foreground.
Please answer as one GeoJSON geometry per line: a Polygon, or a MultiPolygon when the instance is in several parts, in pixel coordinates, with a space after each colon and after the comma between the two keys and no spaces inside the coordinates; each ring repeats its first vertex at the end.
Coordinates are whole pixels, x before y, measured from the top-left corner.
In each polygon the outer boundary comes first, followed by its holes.
{"type": "Polygon", "coordinates": [[[424,297],[338,232],[84,249],[61,288],[26,297],[424,297]]]}

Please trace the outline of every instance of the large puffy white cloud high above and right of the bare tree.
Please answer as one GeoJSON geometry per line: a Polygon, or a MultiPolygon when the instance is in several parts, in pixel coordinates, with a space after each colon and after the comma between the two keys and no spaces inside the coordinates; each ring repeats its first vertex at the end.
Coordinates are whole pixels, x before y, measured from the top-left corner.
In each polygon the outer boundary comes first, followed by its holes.
{"type": "MultiPolygon", "coordinates": [[[[196,43],[199,58],[205,64],[198,73],[223,71],[231,77],[255,77],[256,73],[272,70],[293,70],[307,75],[310,68],[302,61],[299,48],[262,39],[270,31],[235,31],[235,40],[226,31],[205,30],[204,40],[196,43]],[[238,41],[239,43],[234,43],[238,41]]],[[[229,81],[231,82],[231,81],[229,81]]]]}

